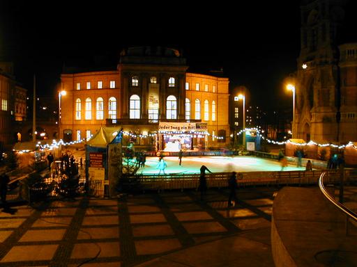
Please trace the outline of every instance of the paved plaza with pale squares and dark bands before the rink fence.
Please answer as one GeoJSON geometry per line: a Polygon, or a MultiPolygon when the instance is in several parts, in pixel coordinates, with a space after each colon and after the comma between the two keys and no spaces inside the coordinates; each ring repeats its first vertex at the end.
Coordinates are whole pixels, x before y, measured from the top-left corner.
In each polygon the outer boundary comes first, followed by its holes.
{"type": "MultiPolygon", "coordinates": [[[[165,191],[119,199],[78,197],[0,212],[1,266],[135,266],[155,257],[244,236],[270,249],[277,188],[242,188],[238,206],[228,192],[165,191]]],[[[244,265],[241,265],[244,266],[244,265]]]]}

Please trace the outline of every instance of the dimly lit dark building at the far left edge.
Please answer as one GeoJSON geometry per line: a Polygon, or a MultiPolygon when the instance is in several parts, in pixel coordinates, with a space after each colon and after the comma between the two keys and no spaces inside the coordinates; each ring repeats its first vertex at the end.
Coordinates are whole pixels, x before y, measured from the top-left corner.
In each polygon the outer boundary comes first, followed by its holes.
{"type": "Polygon", "coordinates": [[[0,152],[10,149],[22,133],[15,123],[26,120],[26,89],[15,80],[13,63],[0,62],[0,152]]]}

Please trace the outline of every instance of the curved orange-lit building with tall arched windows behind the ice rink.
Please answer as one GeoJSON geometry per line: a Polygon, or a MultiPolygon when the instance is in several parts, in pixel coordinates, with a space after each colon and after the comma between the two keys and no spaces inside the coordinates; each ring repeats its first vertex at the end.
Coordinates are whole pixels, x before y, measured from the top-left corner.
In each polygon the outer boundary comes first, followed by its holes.
{"type": "Polygon", "coordinates": [[[116,70],[61,74],[60,138],[118,126],[156,150],[225,147],[229,79],[187,70],[176,49],[131,47],[116,70]]]}

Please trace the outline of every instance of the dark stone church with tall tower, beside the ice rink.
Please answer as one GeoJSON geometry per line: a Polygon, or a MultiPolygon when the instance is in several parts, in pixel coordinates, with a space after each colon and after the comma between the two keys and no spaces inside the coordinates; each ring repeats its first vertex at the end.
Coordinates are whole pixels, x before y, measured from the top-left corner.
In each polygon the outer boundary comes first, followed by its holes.
{"type": "Polygon", "coordinates": [[[357,52],[357,44],[338,46],[346,3],[302,1],[294,138],[317,143],[357,140],[352,115],[357,111],[357,54],[346,58],[347,50],[357,52]]]}

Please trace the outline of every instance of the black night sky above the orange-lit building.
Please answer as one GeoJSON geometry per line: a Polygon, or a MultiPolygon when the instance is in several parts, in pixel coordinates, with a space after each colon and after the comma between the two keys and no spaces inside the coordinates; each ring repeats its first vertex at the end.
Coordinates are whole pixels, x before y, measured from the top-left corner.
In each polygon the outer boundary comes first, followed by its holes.
{"type": "Polygon", "coordinates": [[[114,68],[125,47],[174,47],[191,72],[222,68],[250,103],[291,105],[282,81],[296,70],[300,1],[122,2],[1,1],[0,56],[29,95],[36,73],[36,94],[55,96],[63,65],[114,68]]]}

